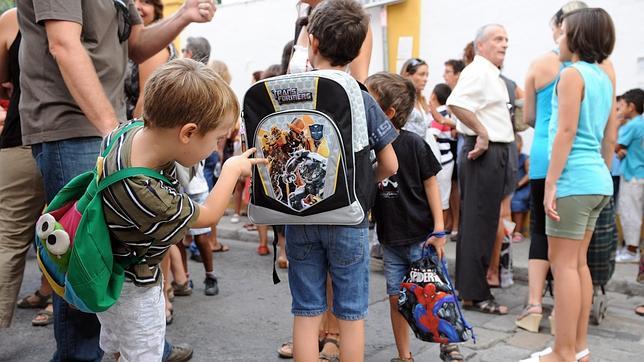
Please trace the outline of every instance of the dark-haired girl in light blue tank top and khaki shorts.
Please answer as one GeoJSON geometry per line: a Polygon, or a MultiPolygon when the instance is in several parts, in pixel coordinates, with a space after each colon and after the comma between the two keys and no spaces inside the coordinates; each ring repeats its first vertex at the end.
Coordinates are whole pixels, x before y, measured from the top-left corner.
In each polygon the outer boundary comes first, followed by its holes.
{"type": "Polygon", "coordinates": [[[615,77],[605,61],[614,44],[615,28],[603,9],[564,15],[559,59],[571,65],[561,72],[552,98],[543,200],[548,259],[557,281],[555,344],[525,361],[570,362],[588,355],[593,286],[586,254],[597,217],[613,193],[606,164],[617,134],[615,77]]]}

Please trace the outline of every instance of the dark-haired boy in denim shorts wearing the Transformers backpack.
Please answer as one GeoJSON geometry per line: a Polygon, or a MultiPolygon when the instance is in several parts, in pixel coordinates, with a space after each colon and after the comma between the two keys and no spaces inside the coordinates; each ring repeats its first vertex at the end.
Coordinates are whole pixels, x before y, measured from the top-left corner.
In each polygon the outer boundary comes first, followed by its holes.
{"type": "MultiPolygon", "coordinates": [[[[311,13],[307,27],[309,62],[316,69],[346,70],[347,64],[358,56],[368,27],[368,15],[359,2],[321,2],[311,13]]],[[[378,159],[374,181],[382,180],[398,168],[391,147],[396,132],[373,98],[367,92],[362,95],[369,145],[378,159]]],[[[360,203],[368,209],[371,200],[363,198],[360,203]]],[[[355,226],[286,227],[296,361],[319,359],[319,325],[328,307],[327,273],[333,285],[333,314],[342,336],[340,357],[343,361],[364,360],[364,318],[369,305],[368,226],[365,219],[355,226]]]]}

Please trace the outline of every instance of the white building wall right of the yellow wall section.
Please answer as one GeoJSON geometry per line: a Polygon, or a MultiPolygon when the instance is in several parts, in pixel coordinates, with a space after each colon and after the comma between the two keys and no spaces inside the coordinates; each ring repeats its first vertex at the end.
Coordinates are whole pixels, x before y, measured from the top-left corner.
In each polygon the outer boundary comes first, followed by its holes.
{"type": "MultiPolygon", "coordinates": [[[[422,0],[420,57],[429,63],[429,85],[443,82],[443,63],[460,59],[465,44],[474,39],[480,26],[499,23],[510,38],[504,73],[523,86],[530,62],[555,47],[549,22],[566,1],[422,0]]],[[[644,1],[585,1],[604,8],[615,23],[617,42],[611,60],[618,94],[644,87],[644,65],[638,73],[638,58],[644,58],[644,1]]]]}

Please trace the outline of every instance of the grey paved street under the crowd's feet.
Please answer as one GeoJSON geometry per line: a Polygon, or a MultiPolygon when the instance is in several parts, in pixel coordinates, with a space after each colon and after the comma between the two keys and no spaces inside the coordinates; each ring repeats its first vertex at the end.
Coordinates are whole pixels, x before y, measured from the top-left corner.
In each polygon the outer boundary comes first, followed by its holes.
{"type": "MultiPolygon", "coordinates": [[[[243,222],[238,225],[243,225],[243,222]]],[[[241,228],[229,224],[222,226],[229,231],[231,227],[241,228]]],[[[233,235],[226,230],[220,234],[233,235]]],[[[175,299],[175,321],[168,328],[168,339],[192,344],[194,361],[278,361],[276,349],[290,338],[290,294],[286,272],[280,271],[282,283],[274,286],[272,255],[260,257],[256,254],[257,244],[250,242],[252,234],[243,239],[247,240],[223,240],[231,250],[214,254],[215,272],[220,278],[218,296],[206,297],[203,294],[202,266],[190,262],[195,292],[191,297],[175,299]]],[[[450,249],[453,253],[453,243],[450,249]]],[[[515,265],[520,264],[516,259],[521,253],[515,253],[515,265]]],[[[628,266],[629,272],[631,269],[633,273],[636,270],[628,266]]],[[[28,260],[21,296],[37,288],[38,275],[32,256],[28,260]]],[[[634,280],[634,277],[632,274],[629,279],[634,280]]],[[[477,336],[476,344],[468,342],[462,348],[468,361],[518,361],[551,343],[547,318],[542,322],[541,334],[517,331],[514,327],[514,318],[527,294],[525,283],[498,290],[495,294],[501,303],[511,307],[511,314],[495,317],[465,312],[477,336]]],[[[600,326],[591,326],[590,329],[591,358],[593,361],[639,360],[644,350],[644,319],[633,313],[633,307],[644,303],[644,295],[635,286],[634,289],[622,289],[621,293],[610,292],[608,297],[608,316],[600,326]]],[[[545,302],[547,306],[552,305],[551,299],[545,302]]],[[[30,321],[34,314],[35,311],[19,309],[13,326],[0,330],[0,361],[46,361],[51,357],[54,352],[53,326],[32,327],[30,321]]],[[[386,362],[396,355],[385,280],[377,263],[372,266],[366,329],[366,361],[386,362]]],[[[414,340],[412,351],[416,361],[439,360],[437,345],[414,340]]]]}

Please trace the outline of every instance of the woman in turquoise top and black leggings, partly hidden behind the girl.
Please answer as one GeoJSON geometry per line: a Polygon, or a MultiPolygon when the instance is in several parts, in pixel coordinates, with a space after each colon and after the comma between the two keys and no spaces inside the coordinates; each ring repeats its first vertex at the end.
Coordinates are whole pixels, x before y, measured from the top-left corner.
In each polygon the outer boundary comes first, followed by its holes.
{"type": "MultiPolygon", "coordinates": [[[[563,16],[581,8],[581,1],[570,1],[557,11],[550,20],[555,42],[562,34],[563,16]]],[[[530,148],[530,254],[528,257],[528,304],[517,317],[516,325],[538,333],[543,317],[541,302],[550,263],[548,262],[548,238],[546,237],[546,213],[543,209],[543,190],[548,171],[548,124],[552,114],[552,93],[559,72],[564,65],[559,61],[559,48],[537,58],[528,69],[525,81],[524,122],[534,127],[530,148]]],[[[553,322],[554,313],[550,318],[553,322]]],[[[552,330],[552,325],[551,325],[552,330]]]]}

